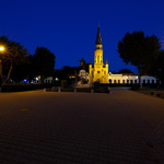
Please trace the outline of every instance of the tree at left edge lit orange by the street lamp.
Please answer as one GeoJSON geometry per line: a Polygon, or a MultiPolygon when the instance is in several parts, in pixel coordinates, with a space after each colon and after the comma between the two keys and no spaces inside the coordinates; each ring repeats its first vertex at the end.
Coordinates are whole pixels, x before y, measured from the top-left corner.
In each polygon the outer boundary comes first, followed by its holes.
{"type": "Polygon", "coordinates": [[[4,47],[4,50],[0,52],[0,78],[2,84],[5,84],[10,78],[13,65],[24,62],[28,51],[23,45],[10,40],[7,36],[0,36],[0,46],[4,47]],[[3,73],[7,75],[5,79],[3,73]]]}

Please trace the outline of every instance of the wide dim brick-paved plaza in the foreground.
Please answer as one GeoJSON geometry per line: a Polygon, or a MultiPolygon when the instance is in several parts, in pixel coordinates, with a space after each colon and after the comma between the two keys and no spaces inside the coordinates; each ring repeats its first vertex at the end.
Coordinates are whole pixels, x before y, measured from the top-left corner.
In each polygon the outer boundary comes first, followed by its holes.
{"type": "Polygon", "coordinates": [[[106,93],[0,93],[0,164],[164,163],[164,99],[106,93]]]}

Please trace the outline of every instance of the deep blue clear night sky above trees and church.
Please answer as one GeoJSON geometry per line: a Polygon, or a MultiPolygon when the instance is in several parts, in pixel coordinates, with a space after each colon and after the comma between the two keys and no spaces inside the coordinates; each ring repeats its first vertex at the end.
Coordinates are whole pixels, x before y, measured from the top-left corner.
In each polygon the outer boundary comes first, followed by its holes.
{"type": "Polygon", "coordinates": [[[82,58],[93,62],[98,20],[109,71],[137,72],[117,52],[127,32],[141,30],[164,44],[164,0],[2,0],[0,15],[0,36],[20,42],[32,55],[37,46],[47,47],[56,55],[55,69],[79,66],[82,58]]]}

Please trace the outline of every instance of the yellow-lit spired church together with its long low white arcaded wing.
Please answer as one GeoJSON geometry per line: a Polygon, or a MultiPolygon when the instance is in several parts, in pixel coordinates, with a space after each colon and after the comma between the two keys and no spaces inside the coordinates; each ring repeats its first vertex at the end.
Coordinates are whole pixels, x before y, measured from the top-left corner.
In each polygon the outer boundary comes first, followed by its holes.
{"type": "MultiPolygon", "coordinates": [[[[94,65],[90,62],[89,74],[85,78],[89,83],[99,81],[101,83],[110,83],[110,84],[132,84],[139,83],[137,73],[119,73],[113,74],[108,73],[108,61],[103,62],[103,44],[101,37],[99,25],[97,28],[97,36],[95,40],[95,50],[94,50],[94,65]]],[[[157,80],[154,77],[142,75],[141,82],[144,83],[156,83],[157,80]]]]}

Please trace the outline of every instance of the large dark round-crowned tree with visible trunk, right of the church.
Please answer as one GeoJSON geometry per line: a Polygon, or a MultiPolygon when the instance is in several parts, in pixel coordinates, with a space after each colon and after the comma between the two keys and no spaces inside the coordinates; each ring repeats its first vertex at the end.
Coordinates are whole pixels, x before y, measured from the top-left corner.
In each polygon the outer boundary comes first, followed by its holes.
{"type": "Polygon", "coordinates": [[[140,87],[142,87],[141,75],[149,72],[157,58],[161,44],[154,35],[144,36],[144,33],[133,32],[127,33],[125,37],[118,42],[119,57],[124,62],[131,63],[138,68],[138,77],[140,87]]]}

